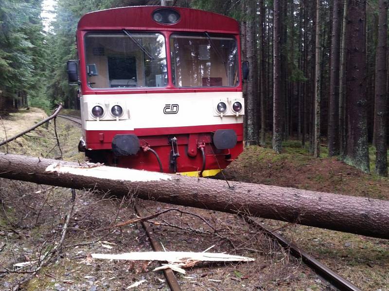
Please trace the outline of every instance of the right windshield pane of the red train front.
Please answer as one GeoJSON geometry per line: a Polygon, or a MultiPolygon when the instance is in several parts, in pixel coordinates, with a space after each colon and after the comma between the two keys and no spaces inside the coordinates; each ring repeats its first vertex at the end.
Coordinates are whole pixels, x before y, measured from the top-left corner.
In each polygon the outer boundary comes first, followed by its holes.
{"type": "Polygon", "coordinates": [[[179,87],[237,86],[238,47],[234,37],[173,34],[173,84],[179,87]]]}

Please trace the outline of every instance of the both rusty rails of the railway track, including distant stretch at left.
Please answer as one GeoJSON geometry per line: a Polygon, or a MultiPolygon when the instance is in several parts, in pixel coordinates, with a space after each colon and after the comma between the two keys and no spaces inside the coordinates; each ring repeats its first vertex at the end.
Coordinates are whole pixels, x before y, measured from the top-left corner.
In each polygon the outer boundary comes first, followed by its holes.
{"type": "MultiPolygon", "coordinates": [[[[81,124],[81,119],[77,116],[69,116],[69,115],[58,115],[59,117],[62,117],[67,120],[71,120],[73,122],[76,122],[78,124],[81,124]]],[[[140,207],[135,207],[138,215],[140,217],[144,216],[140,207]]],[[[321,278],[326,280],[329,284],[331,284],[336,290],[346,290],[346,291],[361,291],[358,287],[356,287],[353,283],[349,282],[347,279],[343,278],[333,270],[329,269],[328,267],[321,264],[317,259],[314,257],[311,257],[306,252],[304,252],[301,248],[294,245],[293,243],[286,240],[283,236],[280,234],[272,231],[268,226],[266,226],[263,223],[258,223],[253,218],[244,218],[245,221],[255,228],[261,230],[267,237],[271,238],[272,240],[277,241],[284,249],[289,251],[289,253],[298,258],[301,259],[308,267],[310,267],[312,270],[315,271],[316,274],[318,274],[321,278]]],[[[142,222],[142,226],[150,240],[150,243],[154,249],[154,251],[161,251],[161,247],[159,246],[158,242],[154,239],[152,235],[152,231],[150,229],[150,226],[147,222],[142,222]]],[[[176,276],[174,275],[173,271],[171,269],[164,270],[164,274],[166,277],[166,281],[169,284],[169,287],[172,291],[180,291],[180,287],[177,281],[176,276]]]]}

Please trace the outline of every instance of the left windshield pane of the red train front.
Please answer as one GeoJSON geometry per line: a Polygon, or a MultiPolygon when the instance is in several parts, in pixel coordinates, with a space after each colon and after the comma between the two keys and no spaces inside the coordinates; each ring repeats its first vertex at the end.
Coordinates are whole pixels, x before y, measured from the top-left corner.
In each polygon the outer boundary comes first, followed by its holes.
{"type": "Polygon", "coordinates": [[[85,37],[88,86],[164,87],[167,84],[162,34],[89,33],[85,37]]]}

